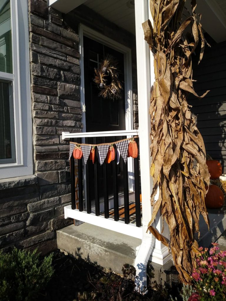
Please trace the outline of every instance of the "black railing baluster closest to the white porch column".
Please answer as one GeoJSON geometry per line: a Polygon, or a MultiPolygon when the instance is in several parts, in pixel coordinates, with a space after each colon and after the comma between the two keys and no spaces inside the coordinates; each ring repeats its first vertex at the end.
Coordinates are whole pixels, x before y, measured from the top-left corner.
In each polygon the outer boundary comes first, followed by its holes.
{"type": "MultiPolygon", "coordinates": [[[[136,139],[138,152],[139,149],[139,138],[136,139]]],[[[136,226],[141,226],[141,212],[140,212],[140,173],[139,173],[139,155],[133,159],[134,166],[134,189],[135,189],[135,206],[136,206],[136,226]]]]}

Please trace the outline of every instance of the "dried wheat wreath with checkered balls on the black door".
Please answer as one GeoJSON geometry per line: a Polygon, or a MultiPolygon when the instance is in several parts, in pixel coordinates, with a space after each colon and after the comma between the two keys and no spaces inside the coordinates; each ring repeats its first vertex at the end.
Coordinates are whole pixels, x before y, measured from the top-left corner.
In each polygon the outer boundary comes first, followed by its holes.
{"type": "Polygon", "coordinates": [[[103,98],[121,98],[122,85],[118,79],[118,62],[111,56],[105,58],[99,68],[95,68],[94,82],[101,90],[99,96],[103,98]]]}

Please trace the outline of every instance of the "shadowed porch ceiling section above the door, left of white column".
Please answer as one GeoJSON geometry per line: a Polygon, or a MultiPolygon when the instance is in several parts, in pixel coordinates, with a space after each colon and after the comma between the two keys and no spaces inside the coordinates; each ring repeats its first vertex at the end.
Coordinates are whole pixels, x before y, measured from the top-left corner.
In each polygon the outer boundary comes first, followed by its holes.
{"type": "Polygon", "coordinates": [[[84,5],[105,17],[119,27],[135,35],[134,1],[128,0],[88,0],[84,5]]]}

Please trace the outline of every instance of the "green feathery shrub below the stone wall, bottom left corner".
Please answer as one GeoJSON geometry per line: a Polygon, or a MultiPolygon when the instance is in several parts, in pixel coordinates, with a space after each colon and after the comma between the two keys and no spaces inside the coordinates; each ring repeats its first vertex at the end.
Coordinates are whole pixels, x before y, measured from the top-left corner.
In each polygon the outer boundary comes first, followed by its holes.
{"type": "Polygon", "coordinates": [[[54,273],[53,254],[39,259],[37,249],[30,251],[14,248],[11,253],[0,251],[0,300],[35,300],[54,273]]]}

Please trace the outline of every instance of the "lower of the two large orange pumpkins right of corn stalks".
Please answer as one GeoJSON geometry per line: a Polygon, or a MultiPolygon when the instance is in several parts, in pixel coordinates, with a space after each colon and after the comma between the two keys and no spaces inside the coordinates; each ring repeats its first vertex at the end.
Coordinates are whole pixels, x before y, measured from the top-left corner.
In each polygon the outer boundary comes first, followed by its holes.
{"type": "MultiPolygon", "coordinates": [[[[207,190],[206,186],[206,190],[207,190]]],[[[220,208],[224,205],[224,194],[217,185],[210,185],[205,197],[206,208],[220,208]]]]}

